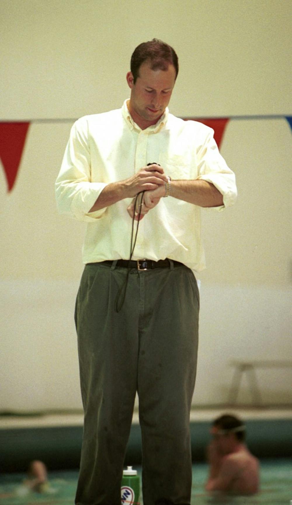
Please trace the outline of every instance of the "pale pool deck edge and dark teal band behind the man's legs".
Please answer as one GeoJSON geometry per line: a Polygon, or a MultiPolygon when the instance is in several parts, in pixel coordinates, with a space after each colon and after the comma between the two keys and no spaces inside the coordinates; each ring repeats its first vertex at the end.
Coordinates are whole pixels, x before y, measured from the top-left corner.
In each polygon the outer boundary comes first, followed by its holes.
{"type": "MultiPolygon", "coordinates": [[[[227,406],[196,407],[190,416],[193,462],[206,461],[212,421],[229,413],[245,421],[247,444],[258,458],[290,458],[292,454],[292,409],[284,407],[227,406]]],[[[50,470],[79,467],[83,413],[46,412],[0,415],[0,468],[2,472],[23,472],[29,461],[40,459],[50,470]]],[[[141,432],[138,412],[127,445],[125,465],[141,464],[141,432]]]]}

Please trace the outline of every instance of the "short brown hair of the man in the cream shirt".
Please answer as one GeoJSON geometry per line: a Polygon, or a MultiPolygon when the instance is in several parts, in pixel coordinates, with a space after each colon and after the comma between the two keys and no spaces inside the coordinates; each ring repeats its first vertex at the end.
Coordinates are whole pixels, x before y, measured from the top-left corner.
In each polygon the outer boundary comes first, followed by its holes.
{"type": "Polygon", "coordinates": [[[178,58],[176,52],[170,45],[158,38],[154,38],[137,45],[131,56],[131,72],[134,84],[137,77],[139,77],[140,66],[147,60],[151,61],[152,70],[167,70],[168,65],[173,65],[176,72],[175,78],[177,77],[178,58]]]}

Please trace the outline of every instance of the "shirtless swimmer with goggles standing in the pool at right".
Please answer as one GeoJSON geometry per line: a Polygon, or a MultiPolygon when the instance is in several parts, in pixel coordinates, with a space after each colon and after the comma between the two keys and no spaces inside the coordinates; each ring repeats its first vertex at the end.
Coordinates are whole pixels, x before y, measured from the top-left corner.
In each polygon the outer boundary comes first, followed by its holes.
{"type": "Polygon", "coordinates": [[[236,495],[257,493],[259,461],[245,444],[244,423],[225,414],[215,419],[211,434],[213,441],[208,447],[210,474],[206,490],[236,495]]]}

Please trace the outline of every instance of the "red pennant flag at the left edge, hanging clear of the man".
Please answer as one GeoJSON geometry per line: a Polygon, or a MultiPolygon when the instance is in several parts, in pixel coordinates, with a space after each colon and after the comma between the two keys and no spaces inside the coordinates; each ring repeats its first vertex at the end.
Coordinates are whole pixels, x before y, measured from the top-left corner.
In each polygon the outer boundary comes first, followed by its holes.
{"type": "Polygon", "coordinates": [[[0,123],[0,158],[8,191],[16,180],[28,127],[29,123],[0,123]]]}

